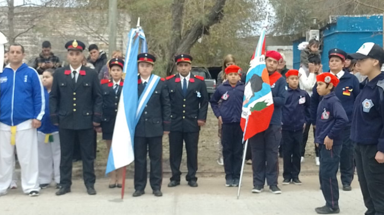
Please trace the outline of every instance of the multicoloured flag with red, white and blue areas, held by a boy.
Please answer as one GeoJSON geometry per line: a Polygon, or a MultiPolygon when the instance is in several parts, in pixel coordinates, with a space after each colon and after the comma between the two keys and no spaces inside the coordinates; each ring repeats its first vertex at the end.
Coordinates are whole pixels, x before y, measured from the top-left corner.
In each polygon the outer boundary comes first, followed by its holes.
{"type": "Polygon", "coordinates": [[[265,67],[265,30],[266,28],[263,27],[245,79],[240,122],[244,131],[244,140],[265,131],[273,114],[272,92],[265,67]]]}

